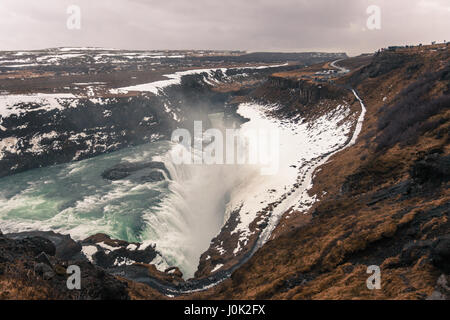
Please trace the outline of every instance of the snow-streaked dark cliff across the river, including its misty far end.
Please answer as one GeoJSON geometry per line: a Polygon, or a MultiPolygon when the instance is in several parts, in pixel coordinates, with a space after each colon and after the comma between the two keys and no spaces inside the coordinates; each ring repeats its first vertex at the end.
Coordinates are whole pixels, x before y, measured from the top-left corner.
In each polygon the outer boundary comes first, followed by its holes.
{"type": "Polygon", "coordinates": [[[215,92],[213,85],[239,78],[244,71],[186,75],[159,95],[2,96],[0,177],[170,139],[175,128],[193,127],[194,119],[207,125],[208,113],[224,111],[230,98],[230,92],[215,92]]]}

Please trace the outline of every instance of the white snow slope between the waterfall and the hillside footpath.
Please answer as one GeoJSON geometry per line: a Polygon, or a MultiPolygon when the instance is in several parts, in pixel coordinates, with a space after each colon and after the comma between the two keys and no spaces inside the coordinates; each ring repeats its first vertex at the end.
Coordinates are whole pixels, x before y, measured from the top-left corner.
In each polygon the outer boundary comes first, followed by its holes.
{"type": "MultiPolygon", "coordinates": [[[[277,108],[276,106],[248,103],[239,106],[238,113],[250,119],[242,126],[244,132],[260,128],[279,130],[280,161],[275,175],[264,176],[255,171],[233,189],[225,221],[232,212],[239,211],[238,225],[232,231],[232,234],[239,234],[234,255],[238,254],[248,243],[250,236],[258,231],[251,231],[250,224],[260,214],[264,219],[259,224],[265,222],[267,226],[262,230],[257,248],[270,238],[283,214],[291,210],[306,212],[316,201],[316,196],[308,193],[313,186],[314,172],[333,154],[353,145],[361,131],[366,109],[356,92],[353,93],[362,110],[352,135],[351,128],[356,119],[350,114],[347,105],[339,105],[312,123],[286,122],[267,116],[268,111],[277,108]],[[272,209],[268,209],[269,204],[273,204],[272,209]]],[[[216,249],[219,251],[221,248],[216,249]]]]}

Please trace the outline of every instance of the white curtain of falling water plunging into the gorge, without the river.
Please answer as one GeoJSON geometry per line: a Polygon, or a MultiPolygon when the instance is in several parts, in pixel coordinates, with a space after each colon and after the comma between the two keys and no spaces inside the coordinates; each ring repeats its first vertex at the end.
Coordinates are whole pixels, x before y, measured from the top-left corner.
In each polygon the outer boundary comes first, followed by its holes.
{"type": "Polygon", "coordinates": [[[227,165],[174,165],[169,157],[161,160],[173,179],[170,195],[158,210],[144,216],[142,239],[148,239],[144,244],[156,243],[168,264],[189,278],[224,223],[227,196],[239,170],[227,165]]]}

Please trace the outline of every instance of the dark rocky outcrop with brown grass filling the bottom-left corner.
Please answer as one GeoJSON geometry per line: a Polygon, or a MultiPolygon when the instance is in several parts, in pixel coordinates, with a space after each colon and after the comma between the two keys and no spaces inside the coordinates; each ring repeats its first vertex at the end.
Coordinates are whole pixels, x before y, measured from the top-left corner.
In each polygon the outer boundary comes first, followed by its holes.
{"type": "Polygon", "coordinates": [[[129,299],[126,282],[86,259],[58,257],[63,241],[68,239],[50,233],[0,236],[0,299],[129,299]],[[79,290],[67,287],[69,265],[81,270],[79,290]]]}

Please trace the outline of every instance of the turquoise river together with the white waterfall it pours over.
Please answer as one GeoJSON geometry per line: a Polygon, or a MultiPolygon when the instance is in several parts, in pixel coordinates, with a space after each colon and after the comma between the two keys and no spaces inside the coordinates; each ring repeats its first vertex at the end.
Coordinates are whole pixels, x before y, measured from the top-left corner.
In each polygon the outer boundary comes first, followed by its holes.
{"type": "MultiPolygon", "coordinates": [[[[162,271],[178,266],[191,277],[224,222],[228,193],[239,171],[222,165],[175,165],[169,142],[30,170],[0,180],[0,226],[5,233],[54,230],[82,240],[95,233],[155,245],[162,271]],[[118,163],[159,160],[172,180],[140,175],[108,181],[118,163]]],[[[145,247],[145,246],[144,246],[145,247]]]]}

